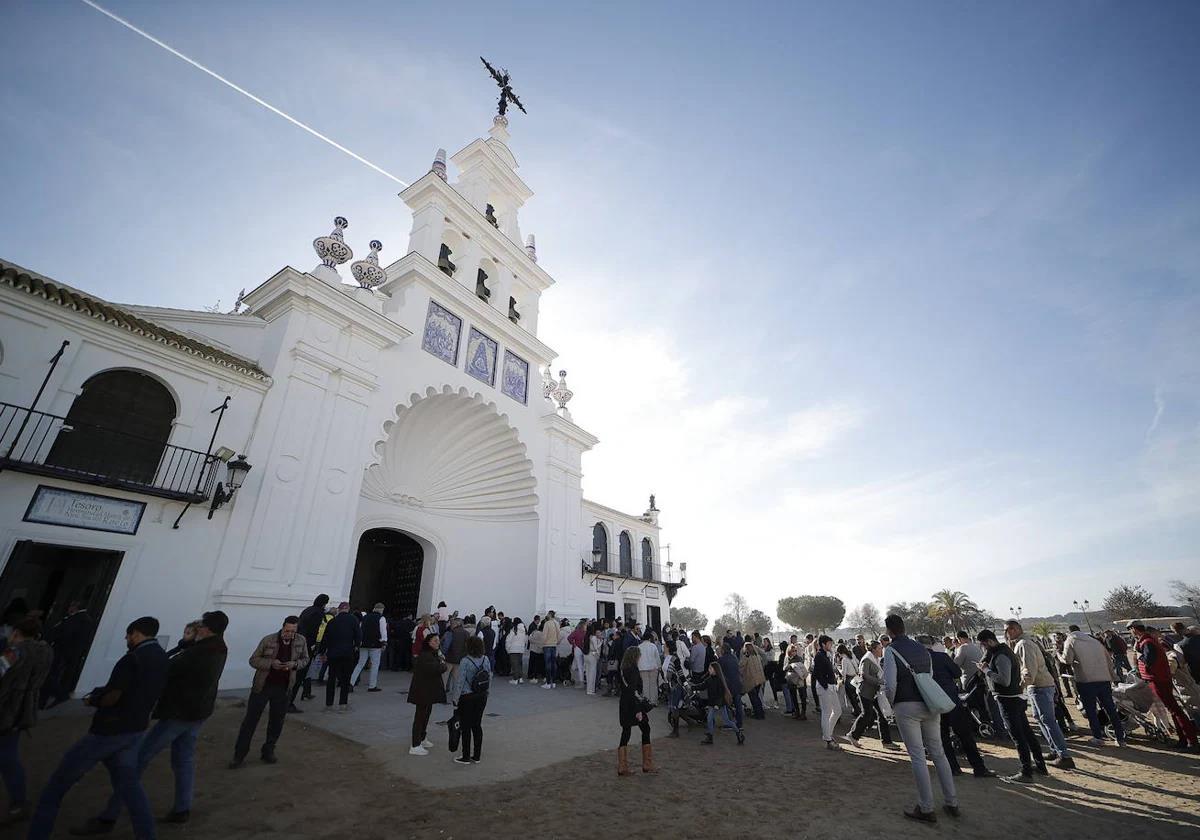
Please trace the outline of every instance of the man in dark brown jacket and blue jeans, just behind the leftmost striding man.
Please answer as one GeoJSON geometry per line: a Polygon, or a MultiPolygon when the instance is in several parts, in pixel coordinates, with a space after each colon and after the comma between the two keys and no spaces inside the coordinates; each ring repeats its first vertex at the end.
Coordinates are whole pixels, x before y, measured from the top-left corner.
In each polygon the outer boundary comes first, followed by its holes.
{"type": "MultiPolygon", "coordinates": [[[[224,671],[228,649],[224,631],[229,617],[220,610],[206,612],[196,630],[196,640],[170,658],[167,666],[167,688],[163,689],[154,716],[158,720],[138,749],[138,775],[145,773],[150,761],[170,746],[170,769],[175,774],[175,803],[164,822],[187,822],[192,814],[192,786],[196,780],[196,742],[200,727],[212,715],[217,700],[217,683],[224,671]]],[[[72,834],[108,834],[121,815],[121,798],[109,797],[108,806],[98,817],[89,820],[72,834]]]]}

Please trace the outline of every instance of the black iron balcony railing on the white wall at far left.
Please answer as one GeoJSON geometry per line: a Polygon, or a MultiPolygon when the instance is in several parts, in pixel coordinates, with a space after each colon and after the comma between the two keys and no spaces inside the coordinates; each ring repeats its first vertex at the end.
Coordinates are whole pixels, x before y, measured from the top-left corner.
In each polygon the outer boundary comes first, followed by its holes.
{"type": "Polygon", "coordinates": [[[0,402],[0,469],[203,502],[216,463],[194,449],[0,402]]]}

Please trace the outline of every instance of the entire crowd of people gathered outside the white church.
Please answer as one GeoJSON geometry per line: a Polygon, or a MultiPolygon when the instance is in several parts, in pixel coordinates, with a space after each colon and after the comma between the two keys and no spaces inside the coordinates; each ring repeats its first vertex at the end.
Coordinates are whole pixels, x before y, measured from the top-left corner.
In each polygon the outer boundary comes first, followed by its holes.
{"type": "MultiPolygon", "coordinates": [[[[155,618],[132,622],[125,656],[104,685],[83,695],[95,709],[88,733],[62,756],[36,806],[30,804],[19,739],[36,725],[40,708],[59,702],[61,686],[79,662],[56,661],[59,648],[42,638],[34,616],[0,626],[5,823],[30,820],[29,838],[48,838],[66,793],[92,767],[104,764],[113,785],[109,802],[71,834],[107,834],[127,809],[136,836],[154,838],[155,820],[140,778],[168,746],[175,790],[166,821],[186,822],[196,745],[214,712],[228,655],[223,641],[228,623],[223,612],[206,612],[184,629],[179,644],[163,650],[155,618]]],[[[366,691],[380,690],[382,670],[412,672],[408,703],[415,709],[409,754],[428,755],[433,707],[450,704],[450,718],[440,722],[448,727],[451,751],[461,749],[455,762],[467,766],[482,757],[482,720],[493,676],[517,686],[574,686],[587,695],[619,698],[622,776],[634,774],[629,749],[635,728],[642,772],[656,772],[650,738],[655,706],[666,707],[667,737],[678,738],[684,725],[701,727],[704,746],[716,743],[719,731],[730,731],[738,745],[745,744],[746,721],[763,720],[769,710],[806,721],[811,706],[827,750],[842,750],[839,740],[860,749],[872,732],[886,749],[907,751],[917,802],[905,816],[920,822],[936,821],[929,761],[943,811],[952,817],[960,816],[955,776],[965,770],[959,754],[973,776],[997,775],[978,749],[980,738],[1006,738],[1016,746],[1020,772],[1001,776],[1006,781],[1028,782],[1049,774],[1049,767],[1074,769],[1067,737],[1075,726],[1068,701],[1082,710],[1092,746],[1123,746],[1129,727],[1141,725],[1147,732],[1174,730],[1178,748],[1198,749],[1200,626],[1176,624],[1160,631],[1134,622],[1130,642],[1117,632],[1084,632],[1075,625],[1037,640],[1015,619],[1004,623],[1001,636],[984,629],[973,637],[966,631],[943,638],[910,637],[899,616],[889,616],[886,628],[876,638],[809,634],[776,643],[733,629],[714,640],[678,625],[643,628],[620,618],[571,622],[553,611],[527,624],[491,606],[479,617],[460,616],[444,602],[425,616],[397,617],[386,616],[383,604],[356,612],[348,602],[335,607],[328,595],[319,595],[299,616],[284,618],[251,653],[253,682],[229,768],[244,766],[264,712],[268,722],[259,755],[276,763],[286,718],[302,712],[298,700],[316,698],[314,684],[325,684],[325,710],[347,712],[349,695],[364,676],[366,691]],[[1136,709],[1130,714],[1132,707],[1118,702],[1118,694],[1123,701],[1134,689],[1145,689],[1152,698],[1148,716],[1139,716],[1136,709]],[[847,730],[840,738],[839,725],[847,730]]],[[[60,637],[68,640],[65,655],[73,655],[73,635],[60,637]]]]}

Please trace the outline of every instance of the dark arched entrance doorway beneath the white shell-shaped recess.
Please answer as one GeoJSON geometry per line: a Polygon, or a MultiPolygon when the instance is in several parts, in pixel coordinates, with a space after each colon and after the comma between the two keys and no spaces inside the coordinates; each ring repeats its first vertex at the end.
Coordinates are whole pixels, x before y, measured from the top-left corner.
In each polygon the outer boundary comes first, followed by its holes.
{"type": "Polygon", "coordinates": [[[382,602],[388,613],[416,616],[425,550],[408,534],[372,528],[359,538],[350,582],[350,606],[370,610],[382,602]]]}

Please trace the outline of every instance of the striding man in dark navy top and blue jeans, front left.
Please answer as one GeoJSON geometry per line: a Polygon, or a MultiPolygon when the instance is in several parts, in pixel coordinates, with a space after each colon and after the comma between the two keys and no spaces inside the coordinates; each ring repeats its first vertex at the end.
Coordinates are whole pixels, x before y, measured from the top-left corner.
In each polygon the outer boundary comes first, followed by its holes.
{"type": "Polygon", "coordinates": [[[59,806],[77,781],[103,763],[113,788],[130,809],[133,835],[154,840],[150,800],[138,775],[138,748],[150,724],[150,712],[167,684],[167,652],[157,640],[158,619],[139,618],[125,631],[130,652],[113,666],[108,684],[94,689],[84,703],[96,709],[91,728],[62,756],[37,800],[29,840],[47,840],[54,830],[59,806]]]}

